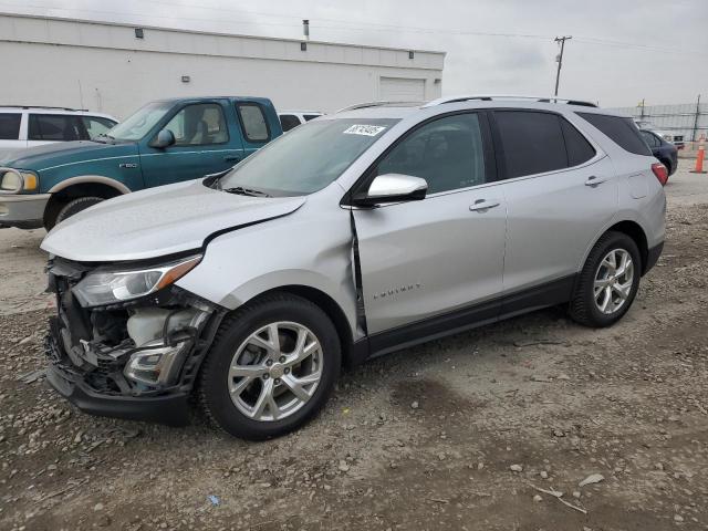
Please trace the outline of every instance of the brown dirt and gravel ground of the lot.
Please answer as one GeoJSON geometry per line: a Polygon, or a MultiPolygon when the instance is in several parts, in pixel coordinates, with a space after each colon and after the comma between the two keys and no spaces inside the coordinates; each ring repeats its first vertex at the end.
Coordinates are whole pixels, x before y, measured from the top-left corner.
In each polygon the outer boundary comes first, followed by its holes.
{"type": "Polygon", "coordinates": [[[262,444],[88,417],[31,382],[42,233],[0,232],[0,529],[708,529],[708,178],[681,164],[620,324],[548,310],[376,360],[262,444]]]}

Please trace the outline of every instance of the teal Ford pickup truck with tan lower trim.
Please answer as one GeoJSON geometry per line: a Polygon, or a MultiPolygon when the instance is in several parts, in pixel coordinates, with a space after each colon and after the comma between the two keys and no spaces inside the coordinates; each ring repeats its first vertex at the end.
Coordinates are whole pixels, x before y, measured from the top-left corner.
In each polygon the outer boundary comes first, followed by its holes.
{"type": "Polygon", "coordinates": [[[0,228],[54,225],[112,197],[226,170],[282,134],[270,100],[152,102],[94,140],[0,158],[0,228]]]}

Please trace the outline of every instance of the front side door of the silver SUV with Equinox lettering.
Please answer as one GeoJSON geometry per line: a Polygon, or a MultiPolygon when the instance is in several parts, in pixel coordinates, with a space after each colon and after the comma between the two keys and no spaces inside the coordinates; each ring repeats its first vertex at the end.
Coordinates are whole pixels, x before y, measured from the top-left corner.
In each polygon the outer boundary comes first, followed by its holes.
{"type": "MultiPolygon", "coordinates": [[[[485,115],[454,114],[419,126],[372,175],[384,174],[423,177],[428,194],[354,211],[368,333],[426,327],[435,321],[428,317],[494,317],[496,302],[483,303],[502,291],[507,216],[491,177],[485,115]],[[473,308],[486,311],[475,315],[473,308]]],[[[426,330],[418,335],[434,333],[426,330]]]]}

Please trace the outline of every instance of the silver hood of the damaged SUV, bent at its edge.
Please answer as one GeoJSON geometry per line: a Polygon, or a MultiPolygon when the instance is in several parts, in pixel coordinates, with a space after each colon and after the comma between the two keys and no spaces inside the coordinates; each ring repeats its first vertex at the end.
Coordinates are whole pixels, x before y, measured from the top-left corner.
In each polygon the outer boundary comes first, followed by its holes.
{"type": "Polygon", "coordinates": [[[80,262],[157,258],[199,249],[217,231],[284,216],[304,202],[239,196],[190,180],[101,202],[59,223],[41,247],[80,262]]]}

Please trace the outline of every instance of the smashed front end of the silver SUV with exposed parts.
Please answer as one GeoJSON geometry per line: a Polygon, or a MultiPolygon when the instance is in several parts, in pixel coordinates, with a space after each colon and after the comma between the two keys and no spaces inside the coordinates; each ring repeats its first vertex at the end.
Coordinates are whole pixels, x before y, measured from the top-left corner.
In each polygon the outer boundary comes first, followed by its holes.
{"type": "Polygon", "coordinates": [[[48,381],[80,409],[188,423],[188,397],[226,312],[174,282],[200,257],[168,263],[85,264],[53,258],[48,381]]]}

